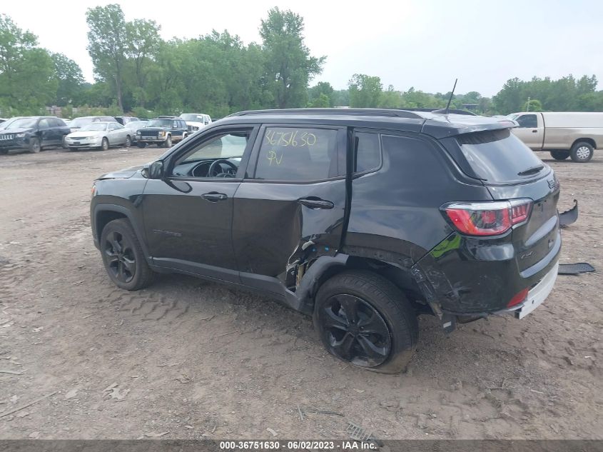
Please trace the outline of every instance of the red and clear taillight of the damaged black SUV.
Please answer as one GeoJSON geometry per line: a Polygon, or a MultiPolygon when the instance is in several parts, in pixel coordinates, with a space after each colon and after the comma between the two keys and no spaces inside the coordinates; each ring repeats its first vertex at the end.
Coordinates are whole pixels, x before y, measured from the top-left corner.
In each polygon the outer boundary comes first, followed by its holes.
{"type": "Polygon", "coordinates": [[[468,236],[496,236],[527,221],[531,199],[480,203],[452,203],[442,210],[455,228],[468,236]]]}

